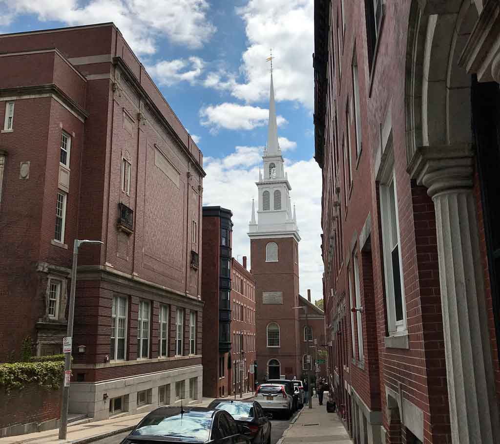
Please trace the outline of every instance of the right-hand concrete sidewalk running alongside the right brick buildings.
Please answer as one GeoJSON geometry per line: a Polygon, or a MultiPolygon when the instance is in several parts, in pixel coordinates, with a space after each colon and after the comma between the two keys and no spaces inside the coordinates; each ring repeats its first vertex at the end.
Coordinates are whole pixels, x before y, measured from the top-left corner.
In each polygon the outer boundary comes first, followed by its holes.
{"type": "Polygon", "coordinates": [[[327,413],[326,405],[318,405],[317,398],[313,399],[312,408],[304,405],[277,444],[298,442],[352,444],[337,414],[327,413]]]}

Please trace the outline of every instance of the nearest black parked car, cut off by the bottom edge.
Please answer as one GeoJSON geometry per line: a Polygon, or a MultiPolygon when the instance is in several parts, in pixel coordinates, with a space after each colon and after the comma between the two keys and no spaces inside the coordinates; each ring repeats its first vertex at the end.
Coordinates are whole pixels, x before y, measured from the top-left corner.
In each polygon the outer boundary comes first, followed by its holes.
{"type": "Polygon", "coordinates": [[[234,418],[206,407],[159,407],[148,413],[120,444],[248,444],[234,418]]]}

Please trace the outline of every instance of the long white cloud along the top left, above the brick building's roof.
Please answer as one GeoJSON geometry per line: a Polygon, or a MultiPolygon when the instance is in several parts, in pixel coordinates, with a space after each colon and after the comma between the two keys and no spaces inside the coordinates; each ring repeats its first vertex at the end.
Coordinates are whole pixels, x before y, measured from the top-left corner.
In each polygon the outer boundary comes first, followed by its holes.
{"type": "Polygon", "coordinates": [[[0,0],[4,17],[34,14],[41,21],[81,25],[113,21],[136,53],[152,54],[157,39],[198,48],[215,32],[206,0],[0,0]]]}

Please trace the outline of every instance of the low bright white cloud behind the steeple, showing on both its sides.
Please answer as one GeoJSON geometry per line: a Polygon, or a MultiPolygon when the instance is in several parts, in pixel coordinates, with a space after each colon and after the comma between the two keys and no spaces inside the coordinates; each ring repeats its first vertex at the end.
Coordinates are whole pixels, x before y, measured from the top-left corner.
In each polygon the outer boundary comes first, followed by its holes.
{"type": "MultiPolygon", "coordinates": [[[[247,236],[251,199],[257,200],[258,168],[261,164],[258,146],[237,146],[223,158],[205,157],[203,180],[203,205],[221,205],[229,208],[234,223],[232,254],[250,260],[250,240],[247,236]]],[[[321,261],[321,171],[314,159],[287,161],[286,171],[293,188],[290,193],[296,204],[297,224],[302,240],[299,243],[300,294],[312,299],[322,298],[321,261]]]]}

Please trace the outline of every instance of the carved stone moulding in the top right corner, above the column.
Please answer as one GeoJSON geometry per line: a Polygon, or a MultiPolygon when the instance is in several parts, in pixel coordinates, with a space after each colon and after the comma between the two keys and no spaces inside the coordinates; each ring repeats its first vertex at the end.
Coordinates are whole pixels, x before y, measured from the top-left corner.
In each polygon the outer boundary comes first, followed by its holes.
{"type": "Polygon", "coordinates": [[[458,61],[481,82],[500,83],[500,3],[486,1],[458,61]]]}

